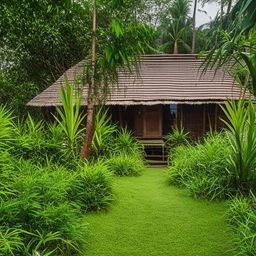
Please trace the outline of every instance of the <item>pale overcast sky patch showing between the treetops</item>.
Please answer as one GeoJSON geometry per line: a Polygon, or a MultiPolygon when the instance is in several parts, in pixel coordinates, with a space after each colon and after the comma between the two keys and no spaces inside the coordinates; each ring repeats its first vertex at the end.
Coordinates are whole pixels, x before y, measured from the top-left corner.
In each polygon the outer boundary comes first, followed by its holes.
{"type": "Polygon", "coordinates": [[[219,7],[216,3],[205,4],[204,7],[202,7],[201,4],[199,4],[197,8],[196,26],[198,27],[204,23],[209,22],[211,19],[213,19],[216,16],[218,10],[219,10],[219,7]],[[199,9],[203,10],[204,12],[207,12],[207,14],[199,11],[199,9]]]}

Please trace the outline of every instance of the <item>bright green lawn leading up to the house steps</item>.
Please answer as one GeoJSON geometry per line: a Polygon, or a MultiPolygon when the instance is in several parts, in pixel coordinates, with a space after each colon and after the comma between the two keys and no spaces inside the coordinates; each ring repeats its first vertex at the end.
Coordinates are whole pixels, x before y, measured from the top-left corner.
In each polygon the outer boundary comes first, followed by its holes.
{"type": "Polygon", "coordinates": [[[222,256],[233,246],[225,203],[168,186],[163,169],[117,178],[108,212],[86,217],[87,256],[222,256]]]}

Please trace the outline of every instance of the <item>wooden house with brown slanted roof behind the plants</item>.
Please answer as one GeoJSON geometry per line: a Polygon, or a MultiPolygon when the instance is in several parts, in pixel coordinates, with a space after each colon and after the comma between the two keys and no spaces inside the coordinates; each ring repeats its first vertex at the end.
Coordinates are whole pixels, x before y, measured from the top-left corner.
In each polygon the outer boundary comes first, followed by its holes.
{"type": "MultiPolygon", "coordinates": [[[[119,85],[113,85],[105,104],[110,106],[113,120],[127,126],[140,139],[159,140],[172,127],[183,127],[193,137],[210,129],[223,127],[219,104],[238,100],[249,92],[237,84],[229,66],[202,73],[204,58],[192,54],[161,54],[141,57],[139,75],[120,71],[119,85]]],[[[84,61],[66,72],[73,83],[83,73],[84,61]]],[[[60,106],[61,76],[53,85],[32,99],[28,105],[60,106]]],[[[83,90],[86,105],[87,89],[83,90]]]]}

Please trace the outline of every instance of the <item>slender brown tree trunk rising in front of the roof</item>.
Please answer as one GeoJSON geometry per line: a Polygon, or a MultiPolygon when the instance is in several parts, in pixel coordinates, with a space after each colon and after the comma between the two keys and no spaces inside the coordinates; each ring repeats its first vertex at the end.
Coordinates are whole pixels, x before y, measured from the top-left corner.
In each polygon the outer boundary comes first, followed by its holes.
{"type": "Polygon", "coordinates": [[[97,32],[97,6],[96,0],[93,0],[93,25],[92,25],[92,52],[91,52],[91,74],[89,77],[88,100],[87,100],[87,118],[86,118],[86,134],[84,144],[80,153],[82,159],[88,159],[91,154],[92,139],[94,135],[94,122],[95,122],[95,68],[96,68],[96,32],[97,32]]]}

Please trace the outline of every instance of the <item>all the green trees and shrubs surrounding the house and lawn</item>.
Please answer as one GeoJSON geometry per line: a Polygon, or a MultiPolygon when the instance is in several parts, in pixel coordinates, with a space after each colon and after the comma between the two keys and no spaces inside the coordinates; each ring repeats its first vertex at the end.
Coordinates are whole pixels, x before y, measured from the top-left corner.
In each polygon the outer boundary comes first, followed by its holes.
{"type": "MultiPolygon", "coordinates": [[[[207,53],[205,70],[233,61],[237,81],[256,95],[256,2],[216,2],[216,18],[195,28],[189,0],[97,1],[97,61],[93,73],[88,64],[88,77],[96,85],[103,81],[108,91],[118,68],[130,67],[131,57],[201,51],[207,53]]],[[[91,159],[80,160],[85,115],[80,95],[69,84],[61,90],[63,106],[57,108],[56,122],[35,121],[27,114],[28,100],[92,54],[91,10],[92,1],[82,0],[0,3],[0,103],[17,115],[0,107],[3,256],[80,254],[87,234],[83,214],[111,203],[113,175],[136,176],[143,170],[142,145],[130,131],[112,124],[103,107],[95,116],[91,159]]],[[[227,218],[237,236],[234,254],[254,256],[255,106],[241,100],[223,111],[227,129],[221,133],[198,142],[183,130],[166,137],[168,180],[194,197],[229,200],[227,218]]]]}

